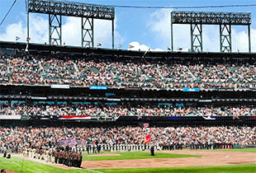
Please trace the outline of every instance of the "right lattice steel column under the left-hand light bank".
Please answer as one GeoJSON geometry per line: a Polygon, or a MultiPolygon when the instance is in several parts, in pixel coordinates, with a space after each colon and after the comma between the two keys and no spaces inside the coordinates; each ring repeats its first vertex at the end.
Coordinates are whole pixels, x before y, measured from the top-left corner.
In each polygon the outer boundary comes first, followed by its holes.
{"type": "Polygon", "coordinates": [[[82,17],[82,47],[94,47],[93,18],[82,17]]]}

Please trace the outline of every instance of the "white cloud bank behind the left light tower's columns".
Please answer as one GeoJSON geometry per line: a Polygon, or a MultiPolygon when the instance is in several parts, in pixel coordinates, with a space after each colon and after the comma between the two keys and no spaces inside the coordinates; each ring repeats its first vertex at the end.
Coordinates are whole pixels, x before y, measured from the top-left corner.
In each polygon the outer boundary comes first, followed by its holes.
{"type": "MultiPolygon", "coordinates": [[[[48,23],[48,19],[42,16],[30,16],[31,43],[43,44],[46,42],[48,44],[48,23]]],[[[115,43],[122,44],[124,38],[116,31],[116,28],[117,25],[115,21],[115,43]]],[[[8,25],[6,30],[0,33],[0,40],[15,41],[16,36],[21,38],[18,41],[26,42],[26,24],[24,21],[8,25]]],[[[66,45],[81,45],[81,18],[63,17],[62,40],[66,45]]],[[[94,46],[96,46],[98,42],[100,42],[104,48],[111,48],[111,21],[94,20],[94,46]]]]}

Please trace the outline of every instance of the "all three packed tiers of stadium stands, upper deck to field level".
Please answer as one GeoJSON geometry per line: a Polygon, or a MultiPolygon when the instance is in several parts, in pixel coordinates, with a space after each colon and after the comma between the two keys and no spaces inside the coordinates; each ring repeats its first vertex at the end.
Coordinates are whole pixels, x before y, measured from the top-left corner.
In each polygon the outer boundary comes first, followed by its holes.
{"type": "Polygon", "coordinates": [[[0,148],[144,145],[148,134],[162,149],[255,145],[254,61],[211,60],[2,55],[0,148]]]}

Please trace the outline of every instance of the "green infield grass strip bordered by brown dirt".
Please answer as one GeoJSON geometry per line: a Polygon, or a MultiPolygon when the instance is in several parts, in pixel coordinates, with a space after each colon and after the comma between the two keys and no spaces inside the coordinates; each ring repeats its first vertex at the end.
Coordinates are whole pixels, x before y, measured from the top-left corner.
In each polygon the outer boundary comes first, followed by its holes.
{"type": "MultiPolygon", "coordinates": [[[[109,152],[102,152],[109,153],[109,152]]],[[[111,152],[111,154],[119,154],[120,156],[110,157],[93,157],[92,155],[83,154],[83,161],[109,161],[109,160],[127,160],[127,159],[151,159],[151,158],[178,158],[178,157],[201,157],[199,155],[174,154],[155,152],[155,156],[151,157],[150,152],[111,152]]]]}

